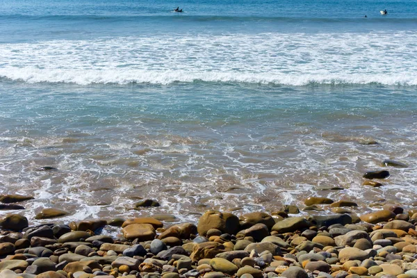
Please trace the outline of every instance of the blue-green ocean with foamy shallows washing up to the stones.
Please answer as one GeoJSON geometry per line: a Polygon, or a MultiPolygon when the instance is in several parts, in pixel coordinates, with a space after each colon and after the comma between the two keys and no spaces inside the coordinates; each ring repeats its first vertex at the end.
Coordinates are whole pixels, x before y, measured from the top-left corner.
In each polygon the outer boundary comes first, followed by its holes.
{"type": "Polygon", "coordinates": [[[411,206],[416,1],[200,2],[0,1],[0,194],[35,197],[19,213],[411,206]],[[362,186],[370,170],[391,176],[362,186]]]}

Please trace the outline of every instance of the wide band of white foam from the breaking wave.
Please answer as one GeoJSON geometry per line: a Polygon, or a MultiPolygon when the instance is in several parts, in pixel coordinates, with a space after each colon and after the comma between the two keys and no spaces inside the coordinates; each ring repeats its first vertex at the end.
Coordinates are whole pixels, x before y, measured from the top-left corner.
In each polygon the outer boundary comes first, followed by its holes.
{"type": "Polygon", "coordinates": [[[417,85],[417,33],[260,33],[0,44],[0,76],[28,83],[417,85]]]}

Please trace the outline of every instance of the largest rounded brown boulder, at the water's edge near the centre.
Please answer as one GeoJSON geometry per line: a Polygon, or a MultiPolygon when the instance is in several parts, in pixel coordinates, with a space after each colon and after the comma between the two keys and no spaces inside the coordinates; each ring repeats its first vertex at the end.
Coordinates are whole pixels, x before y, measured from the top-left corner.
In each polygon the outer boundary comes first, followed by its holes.
{"type": "Polygon", "coordinates": [[[209,229],[218,229],[225,234],[236,234],[240,229],[239,218],[231,213],[206,211],[199,218],[197,231],[200,236],[205,236],[209,229]]]}

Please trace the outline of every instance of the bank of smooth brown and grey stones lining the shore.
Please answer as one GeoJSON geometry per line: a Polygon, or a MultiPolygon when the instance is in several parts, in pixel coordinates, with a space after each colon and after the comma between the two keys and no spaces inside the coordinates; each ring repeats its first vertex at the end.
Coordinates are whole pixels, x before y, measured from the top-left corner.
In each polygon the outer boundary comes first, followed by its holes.
{"type": "Polygon", "coordinates": [[[0,219],[0,278],[417,278],[415,222],[417,213],[395,205],[359,218],[207,211],[197,225],[166,228],[155,218],[28,227],[9,214],[0,219]],[[122,235],[100,235],[108,224],[122,235]]]}

